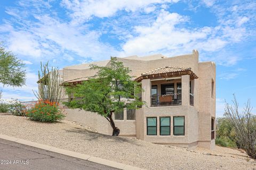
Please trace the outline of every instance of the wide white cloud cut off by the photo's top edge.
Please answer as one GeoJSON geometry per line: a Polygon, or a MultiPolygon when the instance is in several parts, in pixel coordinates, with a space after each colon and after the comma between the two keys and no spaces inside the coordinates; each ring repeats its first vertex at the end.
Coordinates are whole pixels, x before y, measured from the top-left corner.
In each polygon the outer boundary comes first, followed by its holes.
{"type": "MultiPolygon", "coordinates": [[[[152,4],[157,3],[177,3],[178,0],[62,0],[62,5],[68,8],[72,13],[70,16],[74,19],[74,22],[84,22],[91,18],[91,16],[97,16],[99,18],[105,18],[113,16],[119,10],[125,10],[127,12],[134,12],[139,9],[147,9],[152,4]]],[[[152,9],[151,9],[152,10],[152,9]]],[[[146,10],[147,11],[147,10],[146,10]]]]}

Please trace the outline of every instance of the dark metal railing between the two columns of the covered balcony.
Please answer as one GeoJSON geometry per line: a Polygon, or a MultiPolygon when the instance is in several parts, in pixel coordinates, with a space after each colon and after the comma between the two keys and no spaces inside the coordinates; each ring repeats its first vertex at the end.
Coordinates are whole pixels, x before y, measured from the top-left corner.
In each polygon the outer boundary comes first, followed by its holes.
{"type": "Polygon", "coordinates": [[[152,95],[151,106],[181,105],[181,94],[152,95]]]}

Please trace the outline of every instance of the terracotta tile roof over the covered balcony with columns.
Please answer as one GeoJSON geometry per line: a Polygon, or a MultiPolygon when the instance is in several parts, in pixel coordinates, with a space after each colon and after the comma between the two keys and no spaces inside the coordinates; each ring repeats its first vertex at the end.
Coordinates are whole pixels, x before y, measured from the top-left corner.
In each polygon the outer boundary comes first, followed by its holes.
{"type": "Polygon", "coordinates": [[[158,69],[148,71],[146,73],[142,73],[141,75],[153,75],[153,74],[161,74],[161,73],[171,73],[171,72],[179,72],[179,71],[188,71],[191,70],[191,68],[186,68],[186,67],[160,67],[158,69]]]}

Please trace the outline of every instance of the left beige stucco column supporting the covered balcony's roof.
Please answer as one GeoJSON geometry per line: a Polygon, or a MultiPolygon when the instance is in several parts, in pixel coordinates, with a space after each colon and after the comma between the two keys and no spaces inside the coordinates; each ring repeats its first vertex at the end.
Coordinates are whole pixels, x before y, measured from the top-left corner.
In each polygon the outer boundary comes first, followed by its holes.
{"type": "MultiPolygon", "coordinates": [[[[143,79],[141,81],[141,88],[143,89],[142,91],[142,101],[146,101],[146,106],[150,106],[151,105],[151,81],[150,79],[143,79]]],[[[142,107],[146,107],[146,106],[142,106],[142,107]]]]}

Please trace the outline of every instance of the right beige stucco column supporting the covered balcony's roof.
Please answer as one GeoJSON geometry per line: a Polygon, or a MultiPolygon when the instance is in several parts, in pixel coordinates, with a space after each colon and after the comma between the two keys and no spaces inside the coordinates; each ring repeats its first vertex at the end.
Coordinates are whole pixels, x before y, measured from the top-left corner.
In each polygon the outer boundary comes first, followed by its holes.
{"type": "Polygon", "coordinates": [[[189,106],[189,82],[190,82],[190,75],[181,76],[182,106],[189,106]]]}

